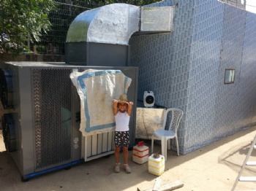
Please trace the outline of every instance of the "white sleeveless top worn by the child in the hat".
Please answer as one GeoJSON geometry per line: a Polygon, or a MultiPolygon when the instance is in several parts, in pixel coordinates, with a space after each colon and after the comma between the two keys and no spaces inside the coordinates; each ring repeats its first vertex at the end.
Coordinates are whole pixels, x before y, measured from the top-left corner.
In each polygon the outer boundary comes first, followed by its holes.
{"type": "Polygon", "coordinates": [[[116,131],[127,131],[129,130],[129,115],[127,112],[117,112],[116,116],[116,131]]]}

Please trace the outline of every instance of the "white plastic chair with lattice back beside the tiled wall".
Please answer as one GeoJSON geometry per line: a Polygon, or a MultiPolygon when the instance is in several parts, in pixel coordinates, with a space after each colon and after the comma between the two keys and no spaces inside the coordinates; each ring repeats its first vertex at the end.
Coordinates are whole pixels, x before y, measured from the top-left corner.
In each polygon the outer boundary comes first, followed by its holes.
{"type": "Polygon", "coordinates": [[[177,136],[177,130],[179,122],[181,121],[181,117],[183,116],[184,112],[182,112],[181,109],[178,108],[170,108],[165,111],[164,114],[164,122],[162,124],[162,128],[159,130],[155,130],[152,134],[151,138],[151,152],[154,153],[154,139],[161,140],[161,147],[162,147],[162,155],[165,157],[165,160],[167,160],[167,142],[169,143],[169,139],[176,139],[176,147],[177,147],[177,155],[179,155],[178,152],[178,136],[177,136]],[[170,119],[170,125],[167,130],[165,130],[165,125],[167,122],[167,114],[169,112],[172,112],[171,119],[170,119]]]}

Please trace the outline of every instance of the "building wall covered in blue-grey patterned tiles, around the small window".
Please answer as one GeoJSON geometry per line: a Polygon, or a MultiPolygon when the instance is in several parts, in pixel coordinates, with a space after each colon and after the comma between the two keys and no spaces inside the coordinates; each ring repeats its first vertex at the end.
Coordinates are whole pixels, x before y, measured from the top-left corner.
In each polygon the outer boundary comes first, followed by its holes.
{"type": "Polygon", "coordinates": [[[184,111],[178,142],[186,154],[256,122],[256,15],[217,0],[148,7],[170,5],[173,32],[132,36],[130,65],[139,66],[138,99],[152,90],[157,105],[184,111]],[[224,85],[227,68],[236,69],[234,84],[224,85]]]}

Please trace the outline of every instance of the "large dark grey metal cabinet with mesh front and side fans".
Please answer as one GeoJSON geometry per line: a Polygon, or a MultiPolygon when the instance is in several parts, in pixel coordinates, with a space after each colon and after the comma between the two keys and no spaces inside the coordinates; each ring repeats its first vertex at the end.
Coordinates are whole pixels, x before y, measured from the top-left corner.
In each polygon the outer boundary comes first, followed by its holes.
{"type": "MultiPolygon", "coordinates": [[[[12,111],[2,117],[4,143],[23,180],[113,153],[113,132],[88,136],[86,141],[81,135],[76,116],[80,98],[69,74],[73,69],[119,69],[132,78],[127,94],[136,104],[138,68],[39,62],[5,62],[0,68],[1,102],[12,111]]],[[[129,124],[131,146],[135,144],[135,116],[134,108],[129,124]]]]}

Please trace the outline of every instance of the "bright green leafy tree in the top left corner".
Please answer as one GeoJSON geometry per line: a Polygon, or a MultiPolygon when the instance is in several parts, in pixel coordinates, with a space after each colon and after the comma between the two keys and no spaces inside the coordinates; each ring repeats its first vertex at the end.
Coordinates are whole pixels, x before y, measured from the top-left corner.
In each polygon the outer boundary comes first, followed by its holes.
{"type": "Polygon", "coordinates": [[[54,7],[52,0],[0,0],[0,51],[23,52],[29,50],[28,39],[39,42],[50,30],[54,7]]]}

